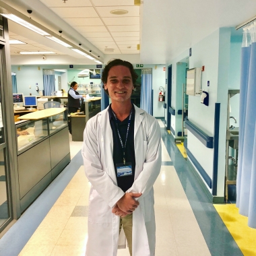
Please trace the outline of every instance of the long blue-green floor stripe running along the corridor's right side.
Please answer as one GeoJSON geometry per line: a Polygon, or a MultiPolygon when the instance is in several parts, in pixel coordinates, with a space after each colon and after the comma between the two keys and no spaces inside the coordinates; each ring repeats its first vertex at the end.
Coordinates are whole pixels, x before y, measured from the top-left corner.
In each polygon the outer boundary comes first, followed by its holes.
{"type": "Polygon", "coordinates": [[[199,181],[191,171],[187,160],[174,143],[174,138],[166,129],[162,128],[162,140],[172,159],[181,185],[189,199],[195,218],[199,224],[205,242],[212,256],[243,256],[238,245],[232,238],[224,222],[220,218],[214,205],[201,187],[199,181]]]}

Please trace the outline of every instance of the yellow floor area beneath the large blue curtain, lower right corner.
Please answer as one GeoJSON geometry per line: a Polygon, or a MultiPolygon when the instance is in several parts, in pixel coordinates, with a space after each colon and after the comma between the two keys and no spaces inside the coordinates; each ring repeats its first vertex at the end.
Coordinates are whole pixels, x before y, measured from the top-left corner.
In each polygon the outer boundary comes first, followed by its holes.
{"type": "Polygon", "coordinates": [[[256,255],[256,229],[248,226],[248,218],[238,213],[235,204],[214,204],[214,207],[243,255],[256,255]]]}

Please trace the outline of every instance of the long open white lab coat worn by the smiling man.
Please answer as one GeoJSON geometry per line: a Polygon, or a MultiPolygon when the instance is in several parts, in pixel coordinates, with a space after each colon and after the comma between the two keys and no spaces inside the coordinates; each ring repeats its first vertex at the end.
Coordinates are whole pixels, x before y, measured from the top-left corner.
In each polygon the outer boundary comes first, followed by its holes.
{"type": "MultiPolygon", "coordinates": [[[[135,106],[135,181],[127,192],[142,193],[133,212],[133,256],[153,256],[155,216],[153,185],[161,167],[161,133],[158,121],[135,106]]],[[[86,177],[92,184],[89,197],[86,256],[116,256],[119,216],[112,208],[123,197],[113,164],[113,133],[108,108],[86,123],[82,146],[86,177]]]]}

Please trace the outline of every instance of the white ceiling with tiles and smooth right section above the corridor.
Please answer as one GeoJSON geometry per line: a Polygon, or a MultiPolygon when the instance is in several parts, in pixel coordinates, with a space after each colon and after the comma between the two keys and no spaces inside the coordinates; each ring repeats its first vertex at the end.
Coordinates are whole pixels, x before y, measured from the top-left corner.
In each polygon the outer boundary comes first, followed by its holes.
{"type": "MultiPolygon", "coordinates": [[[[82,49],[91,50],[104,63],[113,56],[123,59],[133,56],[140,63],[165,64],[218,28],[234,28],[256,14],[256,0],[144,0],[140,6],[135,6],[134,0],[67,0],[66,3],[5,0],[4,3],[56,34],[62,30],[59,35],[77,47],[81,43],[82,49]],[[28,9],[32,10],[31,15],[28,9]],[[114,9],[125,9],[128,13],[110,13],[114,9]]],[[[75,58],[79,63],[93,63],[14,22],[9,22],[9,31],[11,39],[27,43],[11,46],[12,59],[18,59],[20,51],[53,51],[69,57],[69,62],[75,58]]]]}

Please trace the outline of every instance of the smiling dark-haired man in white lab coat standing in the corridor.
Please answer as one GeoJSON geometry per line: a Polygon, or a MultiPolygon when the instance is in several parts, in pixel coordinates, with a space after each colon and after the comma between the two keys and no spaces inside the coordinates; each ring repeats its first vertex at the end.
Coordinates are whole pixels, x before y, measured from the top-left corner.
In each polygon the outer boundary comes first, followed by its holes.
{"type": "Polygon", "coordinates": [[[111,104],[86,123],[82,156],[92,184],[87,256],[117,255],[121,226],[130,255],[155,255],[153,185],[161,166],[160,127],[131,103],[137,74],[127,61],[102,73],[111,104]]]}

